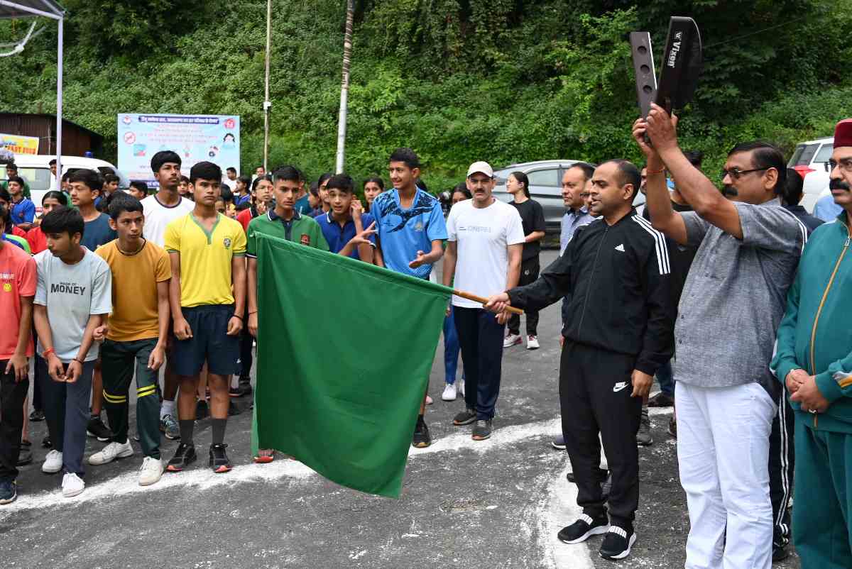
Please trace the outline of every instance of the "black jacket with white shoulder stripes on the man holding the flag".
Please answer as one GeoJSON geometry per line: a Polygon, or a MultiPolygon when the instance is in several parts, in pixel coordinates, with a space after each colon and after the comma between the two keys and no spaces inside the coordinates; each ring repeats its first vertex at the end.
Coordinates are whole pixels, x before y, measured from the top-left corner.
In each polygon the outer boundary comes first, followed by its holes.
{"type": "Polygon", "coordinates": [[[538,280],[509,290],[509,298],[512,306],[539,310],[570,296],[563,336],[636,356],[636,369],[653,376],[674,353],[669,245],[636,210],[612,227],[597,219],[579,227],[538,280]]]}

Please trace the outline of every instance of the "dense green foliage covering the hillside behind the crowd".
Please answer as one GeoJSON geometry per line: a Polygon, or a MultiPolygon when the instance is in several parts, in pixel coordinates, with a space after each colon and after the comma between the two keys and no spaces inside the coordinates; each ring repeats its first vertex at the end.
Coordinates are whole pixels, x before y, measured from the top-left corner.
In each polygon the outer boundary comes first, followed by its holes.
{"type": "MultiPolygon", "coordinates": [[[[273,0],[270,165],[331,170],[343,52],[342,0],[273,0]]],[[[67,0],[65,114],[106,136],[119,112],[239,114],[242,168],[262,158],[265,0],[67,0]]],[[[641,158],[627,36],[693,16],[705,73],[682,110],[684,147],[716,171],[735,141],[787,152],[849,113],[852,0],[359,0],[346,168],[383,174],[394,147],[430,189],[466,166],[545,158],[641,158]],[[767,28],[769,28],[767,30],[767,28]],[[765,30],[765,31],[764,31],[765,30]]],[[[55,111],[55,31],[0,59],[0,109],[55,111]]],[[[26,22],[0,22],[0,42],[26,22]]]]}

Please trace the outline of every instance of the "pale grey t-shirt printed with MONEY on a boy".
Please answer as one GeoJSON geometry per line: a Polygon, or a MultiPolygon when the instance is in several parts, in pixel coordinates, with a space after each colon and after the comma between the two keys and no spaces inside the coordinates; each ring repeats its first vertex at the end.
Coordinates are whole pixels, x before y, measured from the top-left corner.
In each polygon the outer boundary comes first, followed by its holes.
{"type": "MultiPolygon", "coordinates": [[[[112,312],[112,272],[88,249],[80,262],[68,265],[50,251],[36,259],[38,282],[33,302],[47,308],[56,357],[68,364],[77,357],[92,314],[112,312]]],[[[85,361],[98,359],[101,342],[92,342],[85,361]]],[[[44,351],[38,341],[38,353],[44,351]]]]}

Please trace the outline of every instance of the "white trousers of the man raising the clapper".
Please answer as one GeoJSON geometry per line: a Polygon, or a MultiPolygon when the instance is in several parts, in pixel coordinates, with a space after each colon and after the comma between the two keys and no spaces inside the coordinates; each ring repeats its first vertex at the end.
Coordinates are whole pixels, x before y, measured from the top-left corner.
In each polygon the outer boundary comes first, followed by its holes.
{"type": "Polygon", "coordinates": [[[769,569],[769,433],[775,404],[757,383],[677,383],[677,462],[687,493],[686,569],[769,569]]]}

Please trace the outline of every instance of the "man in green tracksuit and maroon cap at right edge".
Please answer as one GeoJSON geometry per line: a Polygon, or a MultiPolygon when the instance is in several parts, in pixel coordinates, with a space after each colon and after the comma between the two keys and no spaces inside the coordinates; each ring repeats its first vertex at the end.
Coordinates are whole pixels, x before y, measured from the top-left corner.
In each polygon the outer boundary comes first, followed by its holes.
{"type": "Polygon", "coordinates": [[[792,534],[803,569],[852,567],[852,118],[829,162],[843,207],[799,262],[772,368],[796,411],[792,534]]]}

